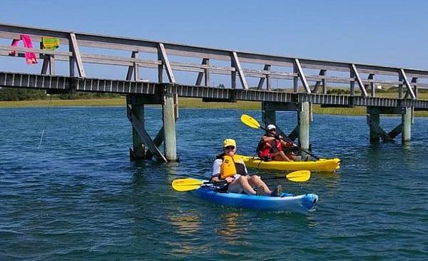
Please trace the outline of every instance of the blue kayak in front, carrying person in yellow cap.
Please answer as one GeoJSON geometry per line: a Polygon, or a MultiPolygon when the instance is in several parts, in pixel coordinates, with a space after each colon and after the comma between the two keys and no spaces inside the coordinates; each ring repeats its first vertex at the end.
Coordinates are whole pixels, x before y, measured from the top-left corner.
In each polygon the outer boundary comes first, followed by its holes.
{"type": "Polygon", "coordinates": [[[308,213],[315,210],[315,205],[318,202],[318,195],[316,194],[292,195],[282,193],[280,197],[247,195],[220,192],[210,185],[202,185],[197,190],[193,190],[192,194],[203,200],[231,207],[298,213],[308,213]]]}

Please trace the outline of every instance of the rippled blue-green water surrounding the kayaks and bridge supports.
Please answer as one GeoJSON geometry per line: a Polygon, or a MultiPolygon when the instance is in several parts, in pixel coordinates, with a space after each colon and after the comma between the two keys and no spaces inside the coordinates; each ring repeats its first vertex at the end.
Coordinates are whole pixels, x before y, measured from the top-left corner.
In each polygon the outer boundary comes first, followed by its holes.
{"type": "MultiPolygon", "coordinates": [[[[222,208],[175,192],[175,178],[204,178],[224,138],[253,153],[258,111],[180,110],[180,162],[132,163],[124,108],[0,110],[0,260],[427,260],[428,120],[412,143],[368,143],[365,117],[314,116],[313,153],[342,158],[337,174],[307,183],[315,213],[222,208]],[[41,147],[39,141],[46,126],[41,147]]],[[[400,118],[382,118],[391,130],[400,118]]],[[[277,113],[282,129],[295,113],[277,113]]],[[[154,136],[161,111],[146,110],[154,136]]],[[[263,173],[270,175],[269,173],[263,173]]]]}

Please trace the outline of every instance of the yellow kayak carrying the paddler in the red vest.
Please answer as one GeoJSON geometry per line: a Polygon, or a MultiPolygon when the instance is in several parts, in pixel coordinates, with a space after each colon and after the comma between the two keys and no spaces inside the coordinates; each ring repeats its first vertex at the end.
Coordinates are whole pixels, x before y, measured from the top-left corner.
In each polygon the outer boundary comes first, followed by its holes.
{"type": "Polygon", "coordinates": [[[312,170],[333,172],[340,168],[340,159],[331,158],[317,161],[264,161],[258,157],[239,155],[248,168],[261,168],[265,170],[312,170]]]}

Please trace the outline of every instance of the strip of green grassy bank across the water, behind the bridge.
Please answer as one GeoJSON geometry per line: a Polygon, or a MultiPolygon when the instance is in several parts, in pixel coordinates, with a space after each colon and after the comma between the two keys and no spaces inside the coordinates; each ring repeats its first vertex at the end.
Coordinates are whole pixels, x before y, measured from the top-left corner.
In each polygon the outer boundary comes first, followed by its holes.
{"type": "MultiPolygon", "coordinates": [[[[389,94],[389,93],[382,93],[389,94]]],[[[425,94],[425,93],[424,93],[425,94]]],[[[427,97],[419,97],[428,99],[427,97]]],[[[386,97],[386,96],[385,96],[386,97]]],[[[392,96],[394,97],[394,96],[392,96]]],[[[19,107],[47,107],[47,106],[125,106],[126,98],[100,98],[82,100],[36,100],[36,101],[1,101],[0,108],[19,107]]],[[[238,101],[237,103],[203,103],[200,98],[180,98],[180,108],[231,108],[241,110],[260,110],[261,104],[253,101],[238,101]]],[[[319,105],[313,106],[316,114],[332,115],[365,115],[365,107],[355,108],[321,108],[319,105]]],[[[415,116],[428,117],[428,111],[417,111],[415,116]]]]}

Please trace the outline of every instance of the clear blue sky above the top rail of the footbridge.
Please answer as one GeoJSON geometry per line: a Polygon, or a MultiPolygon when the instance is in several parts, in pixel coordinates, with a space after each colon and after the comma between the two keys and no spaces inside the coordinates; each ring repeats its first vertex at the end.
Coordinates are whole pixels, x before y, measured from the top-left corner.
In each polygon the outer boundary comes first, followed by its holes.
{"type": "Polygon", "coordinates": [[[1,23],[428,69],[428,1],[4,1],[1,23]]]}

